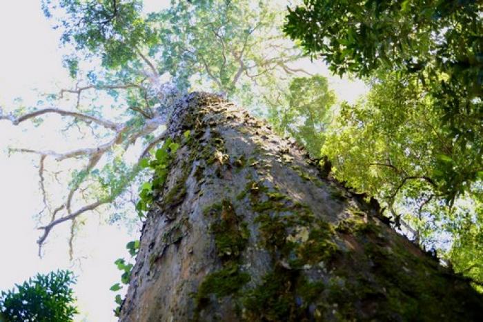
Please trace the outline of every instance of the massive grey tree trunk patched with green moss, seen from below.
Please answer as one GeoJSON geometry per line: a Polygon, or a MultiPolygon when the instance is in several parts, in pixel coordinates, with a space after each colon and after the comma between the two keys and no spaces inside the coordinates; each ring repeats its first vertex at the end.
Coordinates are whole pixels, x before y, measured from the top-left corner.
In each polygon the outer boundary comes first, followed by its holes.
{"type": "Polygon", "coordinates": [[[295,143],[189,94],[121,321],[476,321],[483,299],[295,143]],[[184,132],[190,130],[190,138],[184,132]]]}

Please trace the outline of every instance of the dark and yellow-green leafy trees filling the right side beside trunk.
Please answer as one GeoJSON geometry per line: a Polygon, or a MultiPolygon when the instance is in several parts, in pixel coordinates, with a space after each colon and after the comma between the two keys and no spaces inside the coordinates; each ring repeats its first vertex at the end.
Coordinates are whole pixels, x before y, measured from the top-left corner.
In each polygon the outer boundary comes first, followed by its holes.
{"type": "Polygon", "coordinates": [[[372,85],[330,127],[322,154],[337,177],[377,196],[397,227],[477,281],[481,14],[480,1],[306,1],[285,26],[334,72],[372,85]]]}

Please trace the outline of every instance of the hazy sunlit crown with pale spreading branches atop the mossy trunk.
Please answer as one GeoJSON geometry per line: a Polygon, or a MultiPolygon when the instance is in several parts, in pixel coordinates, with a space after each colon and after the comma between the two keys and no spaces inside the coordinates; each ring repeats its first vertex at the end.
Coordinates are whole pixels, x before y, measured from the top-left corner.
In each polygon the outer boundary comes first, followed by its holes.
{"type": "Polygon", "coordinates": [[[11,149],[39,159],[45,205],[39,245],[68,221],[72,245],[79,216],[103,205],[132,210],[140,162],[164,139],[170,105],[181,93],[210,90],[259,107],[267,84],[276,79],[284,88],[299,72],[290,63],[301,52],[281,32],[284,10],[277,3],[173,1],[146,13],[141,1],[44,0],[43,10],[63,32],[75,86],[27,110],[0,110],[0,120],[20,125],[58,114],[71,134],[100,143],[67,152],[11,149]],[[127,157],[132,153],[137,157],[127,157]],[[69,161],[74,166],[61,166],[69,161]],[[48,171],[57,167],[63,174],[48,171]],[[62,197],[50,192],[59,178],[70,181],[62,197]]]}

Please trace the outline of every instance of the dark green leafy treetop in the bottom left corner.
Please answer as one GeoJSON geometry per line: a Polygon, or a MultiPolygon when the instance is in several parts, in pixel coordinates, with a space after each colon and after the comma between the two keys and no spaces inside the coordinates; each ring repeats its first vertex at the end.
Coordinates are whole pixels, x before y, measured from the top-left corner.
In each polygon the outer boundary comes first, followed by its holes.
{"type": "Polygon", "coordinates": [[[74,274],[66,270],[37,274],[15,285],[17,290],[1,292],[0,314],[6,321],[73,321],[77,308],[70,285],[74,283],[74,274]]]}

